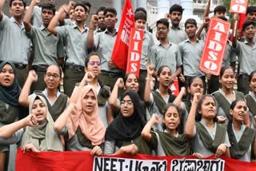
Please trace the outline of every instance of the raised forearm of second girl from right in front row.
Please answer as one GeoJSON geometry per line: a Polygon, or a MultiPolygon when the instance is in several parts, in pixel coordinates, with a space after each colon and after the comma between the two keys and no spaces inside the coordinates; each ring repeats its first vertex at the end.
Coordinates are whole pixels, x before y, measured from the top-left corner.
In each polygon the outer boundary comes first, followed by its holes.
{"type": "Polygon", "coordinates": [[[196,110],[197,110],[197,106],[198,106],[198,97],[199,96],[200,96],[200,93],[194,94],[194,99],[192,101],[190,114],[186,120],[186,126],[185,126],[186,137],[194,137],[195,114],[196,114],[196,110]]]}

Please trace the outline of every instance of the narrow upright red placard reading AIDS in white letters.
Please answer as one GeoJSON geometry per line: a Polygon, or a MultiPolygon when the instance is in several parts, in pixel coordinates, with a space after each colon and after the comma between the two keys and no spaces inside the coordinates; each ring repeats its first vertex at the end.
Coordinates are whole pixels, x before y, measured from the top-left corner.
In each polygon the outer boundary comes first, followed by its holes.
{"type": "Polygon", "coordinates": [[[144,30],[131,29],[130,46],[127,58],[126,74],[134,73],[139,77],[139,68],[141,66],[142,43],[144,30]]]}

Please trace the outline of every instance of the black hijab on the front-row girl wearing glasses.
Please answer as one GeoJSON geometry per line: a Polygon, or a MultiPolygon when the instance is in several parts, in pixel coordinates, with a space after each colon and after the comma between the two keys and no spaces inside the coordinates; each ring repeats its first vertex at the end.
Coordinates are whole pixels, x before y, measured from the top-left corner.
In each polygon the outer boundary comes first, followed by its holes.
{"type": "Polygon", "coordinates": [[[134,113],[130,117],[122,116],[121,109],[118,117],[106,129],[106,141],[131,141],[139,137],[144,128],[145,122],[142,117],[145,110],[143,109],[138,93],[134,90],[127,89],[122,93],[121,101],[126,95],[130,96],[134,104],[134,113]]]}

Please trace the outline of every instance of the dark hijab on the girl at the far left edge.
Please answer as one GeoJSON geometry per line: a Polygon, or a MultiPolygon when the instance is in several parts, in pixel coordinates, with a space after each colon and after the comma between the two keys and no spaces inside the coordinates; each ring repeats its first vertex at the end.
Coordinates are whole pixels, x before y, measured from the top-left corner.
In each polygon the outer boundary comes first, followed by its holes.
{"type": "Polygon", "coordinates": [[[14,70],[14,83],[9,87],[5,87],[0,84],[0,101],[5,102],[8,105],[18,106],[18,97],[21,93],[21,87],[19,86],[18,79],[16,78],[16,68],[12,62],[2,62],[0,64],[0,73],[6,64],[9,64],[14,70]]]}

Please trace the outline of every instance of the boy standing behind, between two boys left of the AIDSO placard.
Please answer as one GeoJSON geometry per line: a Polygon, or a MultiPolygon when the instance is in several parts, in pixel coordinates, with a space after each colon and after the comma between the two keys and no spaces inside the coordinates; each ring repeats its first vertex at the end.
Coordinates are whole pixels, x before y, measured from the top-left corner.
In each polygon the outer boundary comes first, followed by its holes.
{"type": "Polygon", "coordinates": [[[174,4],[170,6],[169,10],[169,18],[171,22],[170,32],[168,33],[168,39],[170,42],[178,45],[180,42],[186,40],[186,32],[182,30],[180,27],[180,22],[182,21],[182,13],[183,13],[182,6],[178,4],[174,4]]]}

